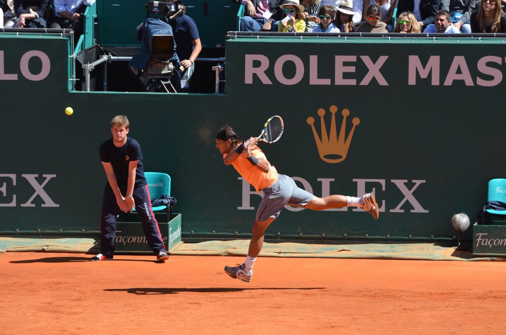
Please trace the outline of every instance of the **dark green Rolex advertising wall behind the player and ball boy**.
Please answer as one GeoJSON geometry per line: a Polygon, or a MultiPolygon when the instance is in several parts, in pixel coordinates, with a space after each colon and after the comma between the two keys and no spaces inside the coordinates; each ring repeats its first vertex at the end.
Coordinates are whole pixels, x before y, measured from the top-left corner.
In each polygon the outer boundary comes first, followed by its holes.
{"type": "Polygon", "coordinates": [[[381,205],[377,221],[288,207],[270,238],[451,240],[452,215],[474,222],[488,180],[504,175],[500,39],[230,39],[226,94],[215,96],[69,92],[67,46],[32,38],[0,47],[2,98],[34,102],[0,114],[2,234],[98,232],[98,147],[116,114],[129,116],[145,171],[171,175],[183,238],[250,234],[261,196],[214,148],[225,122],[248,137],[281,115],[281,140],[260,145],[279,173],[317,196],[374,191],[381,205]],[[17,69],[33,50],[51,62],[39,81],[17,69]]]}

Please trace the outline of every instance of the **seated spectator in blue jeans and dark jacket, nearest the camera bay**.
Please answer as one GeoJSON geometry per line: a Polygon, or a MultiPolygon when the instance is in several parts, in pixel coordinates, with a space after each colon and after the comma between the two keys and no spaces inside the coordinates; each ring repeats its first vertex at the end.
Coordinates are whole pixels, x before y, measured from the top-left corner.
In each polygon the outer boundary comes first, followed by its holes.
{"type": "Polygon", "coordinates": [[[277,31],[273,23],[281,19],[280,0],[241,0],[246,15],[241,18],[241,31],[277,31]]]}

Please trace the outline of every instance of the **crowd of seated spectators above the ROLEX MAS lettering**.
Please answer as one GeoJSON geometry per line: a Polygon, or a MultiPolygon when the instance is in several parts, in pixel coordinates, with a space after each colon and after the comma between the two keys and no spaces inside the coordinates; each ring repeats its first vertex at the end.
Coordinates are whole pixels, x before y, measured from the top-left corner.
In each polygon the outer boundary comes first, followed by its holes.
{"type": "Polygon", "coordinates": [[[241,0],[240,3],[245,8],[241,31],[506,33],[506,0],[241,0]]]}

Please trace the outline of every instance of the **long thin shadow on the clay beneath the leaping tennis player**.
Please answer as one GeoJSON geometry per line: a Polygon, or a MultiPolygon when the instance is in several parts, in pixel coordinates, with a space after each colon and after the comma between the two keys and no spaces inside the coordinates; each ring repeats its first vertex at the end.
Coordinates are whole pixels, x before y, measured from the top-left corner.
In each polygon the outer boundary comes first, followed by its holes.
{"type": "Polygon", "coordinates": [[[326,287],[251,287],[251,288],[240,288],[240,287],[134,287],[134,288],[107,288],[104,291],[119,291],[128,292],[136,295],[173,295],[179,292],[197,292],[197,293],[217,293],[217,292],[242,292],[249,290],[309,290],[309,289],[325,289],[326,287]]]}

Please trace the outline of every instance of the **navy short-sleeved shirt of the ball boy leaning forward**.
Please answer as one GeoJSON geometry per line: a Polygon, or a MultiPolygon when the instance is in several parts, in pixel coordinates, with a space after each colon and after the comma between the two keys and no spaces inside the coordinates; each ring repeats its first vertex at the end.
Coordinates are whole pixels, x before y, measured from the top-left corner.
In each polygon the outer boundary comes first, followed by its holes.
{"type": "Polygon", "coordinates": [[[111,163],[118,186],[128,186],[128,165],[131,160],[138,160],[137,172],[135,175],[135,187],[147,185],[142,166],[142,152],[139,142],[127,137],[126,143],[121,148],[114,145],[112,139],[102,143],[99,149],[100,160],[111,163]]]}

